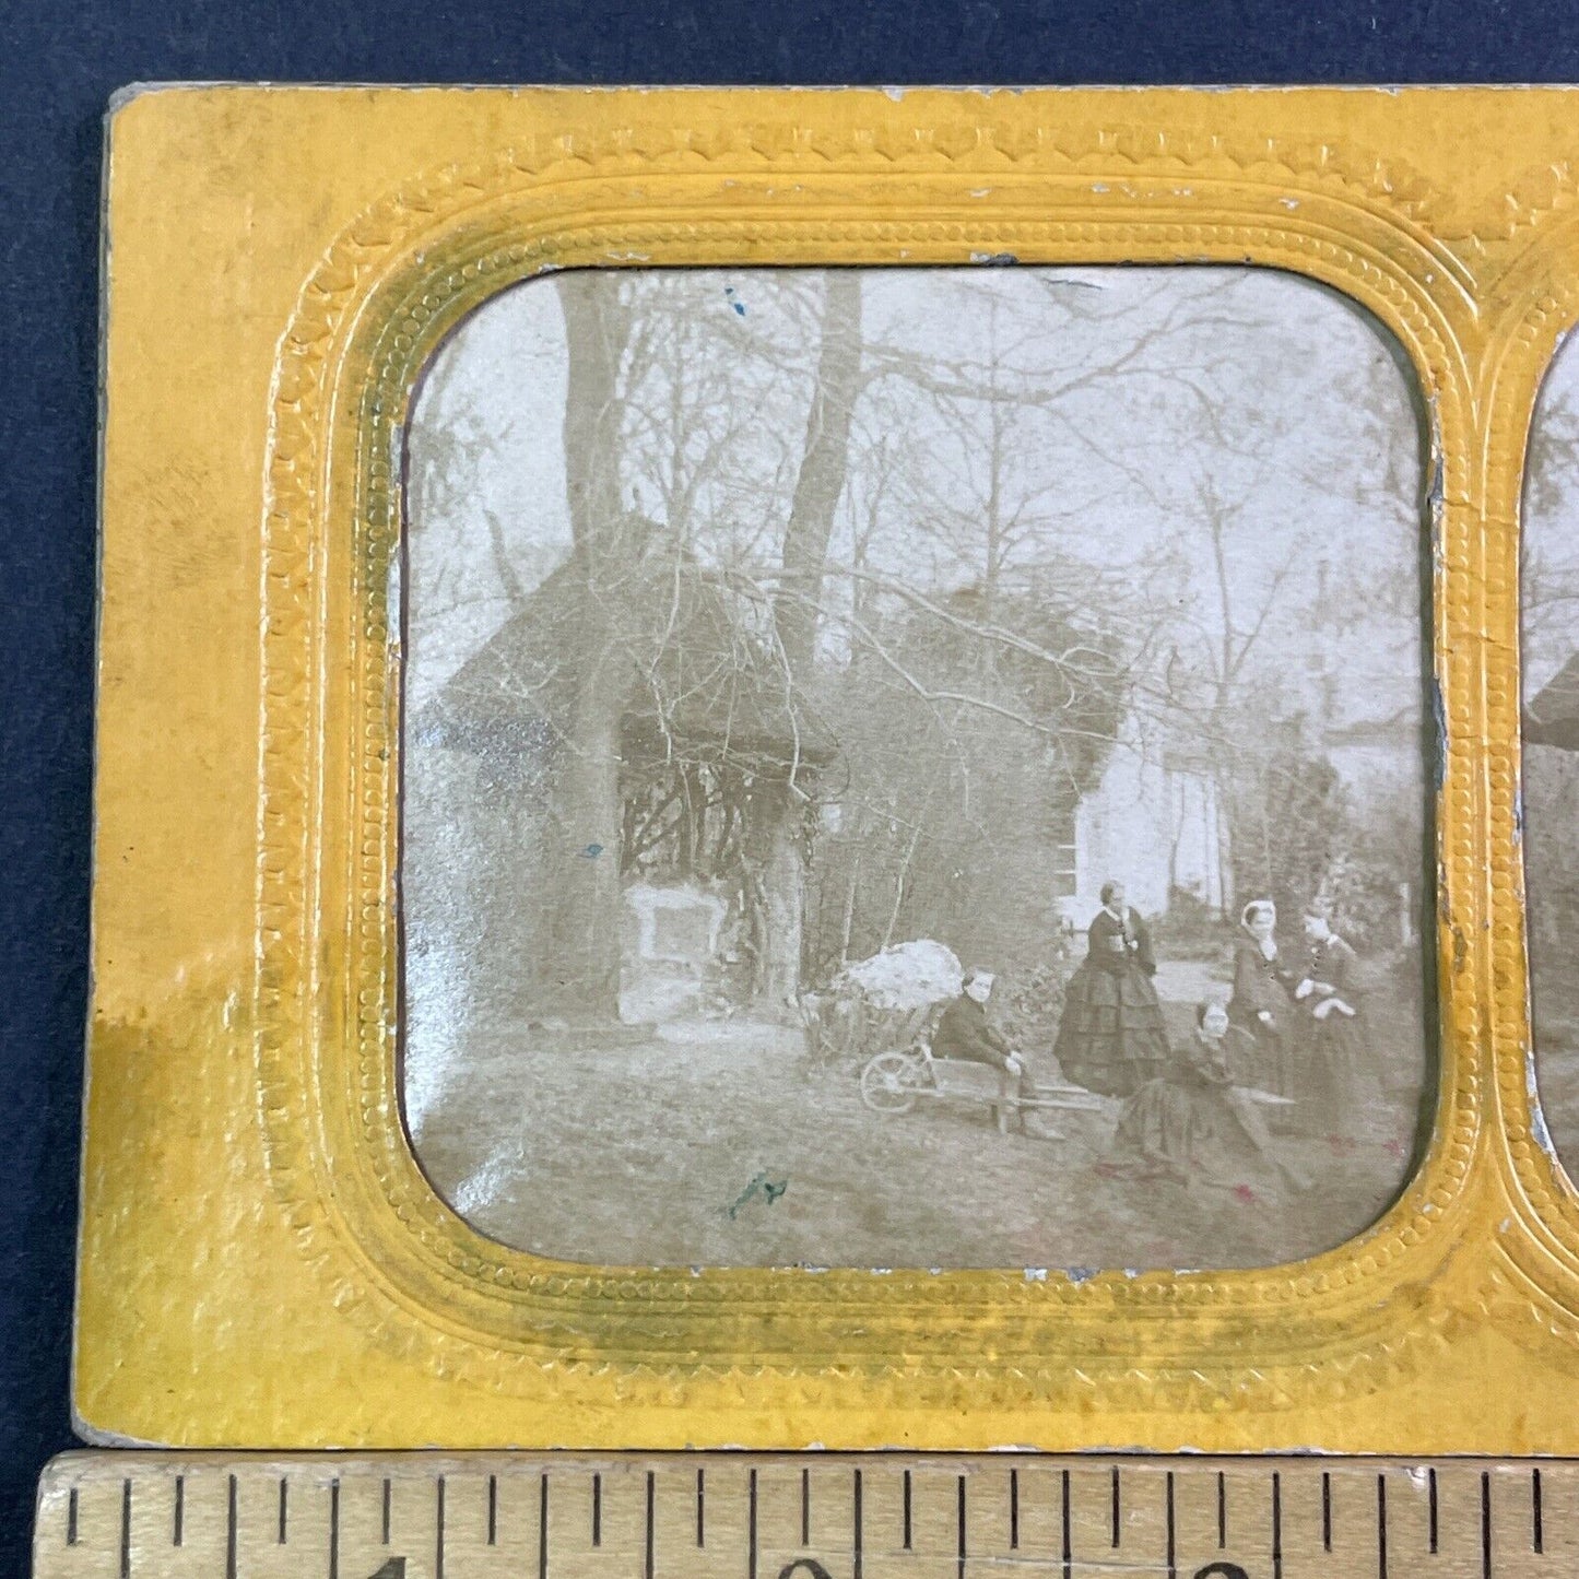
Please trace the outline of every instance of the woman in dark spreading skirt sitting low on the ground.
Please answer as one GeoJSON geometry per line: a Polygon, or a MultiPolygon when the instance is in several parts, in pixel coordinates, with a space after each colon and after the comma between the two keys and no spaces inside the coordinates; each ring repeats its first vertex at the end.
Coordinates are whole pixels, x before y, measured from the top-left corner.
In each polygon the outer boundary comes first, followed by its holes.
{"type": "Polygon", "coordinates": [[[1304,1189],[1309,1181],[1277,1156],[1255,1104],[1228,1080],[1228,1011],[1203,1003],[1195,1022],[1168,1072],[1124,1102],[1097,1172],[1216,1186],[1281,1178],[1304,1189]]]}

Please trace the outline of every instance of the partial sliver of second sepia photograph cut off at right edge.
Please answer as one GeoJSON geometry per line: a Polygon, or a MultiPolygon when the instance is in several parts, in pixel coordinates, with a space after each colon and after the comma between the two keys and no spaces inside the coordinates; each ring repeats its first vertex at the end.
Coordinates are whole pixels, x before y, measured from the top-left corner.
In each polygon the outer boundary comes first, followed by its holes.
{"type": "Polygon", "coordinates": [[[1579,1173],[1579,357],[1560,347],[1530,428],[1522,621],[1524,889],[1541,1112],[1579,1173]]]}

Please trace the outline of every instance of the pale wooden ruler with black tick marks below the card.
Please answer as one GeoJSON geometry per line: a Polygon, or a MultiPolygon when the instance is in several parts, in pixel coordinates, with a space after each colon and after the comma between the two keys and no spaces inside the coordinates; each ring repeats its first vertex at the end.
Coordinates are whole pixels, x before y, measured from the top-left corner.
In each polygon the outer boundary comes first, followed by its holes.
{"type": "Polygon", "coordinates": [[[36,1579],[1579,1576],[1579,1462],[71,1453],[36,1579]]]}

